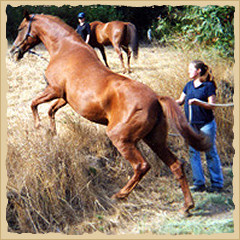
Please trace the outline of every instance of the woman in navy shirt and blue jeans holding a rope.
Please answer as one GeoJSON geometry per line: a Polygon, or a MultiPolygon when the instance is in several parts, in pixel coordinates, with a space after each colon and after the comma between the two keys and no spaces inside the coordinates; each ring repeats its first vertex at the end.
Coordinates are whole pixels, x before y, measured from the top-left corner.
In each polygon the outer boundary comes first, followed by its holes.
{"type": "Polygon", "coordinates": [[[216,101],[216,84],[209,67],[202,61],[195,60],[189,64],[189,81],[176,102],[184,105],[184,110],[190,125],[195,131],[202,131],[209,136],[212,147],[205,153],[209,170],[211,187],[206,189],[200,152],[189,147],[190,163],[193,173],[194,192],[220,192],[223,188],[221,161],[216,148],[216,122],[214,119],[214,104],[216,101]],[[200,101],[199,101],[200,100],[200,101]]]}

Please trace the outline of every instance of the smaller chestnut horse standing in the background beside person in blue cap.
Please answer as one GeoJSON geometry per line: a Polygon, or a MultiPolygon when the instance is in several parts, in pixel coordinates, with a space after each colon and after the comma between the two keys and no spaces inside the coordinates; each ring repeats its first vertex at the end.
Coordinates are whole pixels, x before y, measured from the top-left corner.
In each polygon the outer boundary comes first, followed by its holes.
{"type": "Polygon", "coordinates": [[[106,66],[109,67],[104,46],[112,45],[122,63],[123,72],[130,72],[131,50],[134,58],[137,58],[138,56],[138,37],[135,25],[130,22],[112,21],[108,23],[102,23],[96,21],[90,23],[90,27],[91,35],[89,44],[93,48],[98,48],[100,50],[106,66]],[[130,46],[131,50],[128,48],[128,45],[130,46]],[[121,49],[127,53],[128,70],[126,70],[124,66],[121,49]]]}

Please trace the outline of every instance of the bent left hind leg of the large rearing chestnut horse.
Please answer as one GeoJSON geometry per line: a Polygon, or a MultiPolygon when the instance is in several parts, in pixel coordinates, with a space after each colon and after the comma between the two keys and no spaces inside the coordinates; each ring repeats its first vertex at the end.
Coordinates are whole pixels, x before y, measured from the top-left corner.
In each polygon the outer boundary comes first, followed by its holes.
{"type": "Polygon", "coordinates": [[[139,181],[148,172],[150,165],[136,148],[136,143],[124,140],[121,133],[117,132],[112,129],[111,131],[107,131],[107,134],[121,155],[131,163],[134,170],[134,174],[127,184],[118,193],[113,195],[113,198],[124,199],[132,192],[139,181]]]}

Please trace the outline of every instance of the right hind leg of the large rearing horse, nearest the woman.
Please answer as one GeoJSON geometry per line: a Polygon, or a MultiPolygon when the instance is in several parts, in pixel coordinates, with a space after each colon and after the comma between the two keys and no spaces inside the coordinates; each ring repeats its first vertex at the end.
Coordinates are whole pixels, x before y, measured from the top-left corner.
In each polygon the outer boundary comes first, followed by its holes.
{"type": "Polygon", "coordinates": [[[166,145],[166,138],[167,138],[167,126],[164,122],[162,122],[162,125],[158,124],[158,126],[155,127],[152,130],[152,132],[144,138],[144,141],[170,168],[172,173],[175,175],[176,179],[179,181],[185,201],[181,211],[184,215],[188,215],[189,210],[194,207],[194,201],[189,190],[187,178],[184,172],[184,165],[168,149],[166,145]]]}

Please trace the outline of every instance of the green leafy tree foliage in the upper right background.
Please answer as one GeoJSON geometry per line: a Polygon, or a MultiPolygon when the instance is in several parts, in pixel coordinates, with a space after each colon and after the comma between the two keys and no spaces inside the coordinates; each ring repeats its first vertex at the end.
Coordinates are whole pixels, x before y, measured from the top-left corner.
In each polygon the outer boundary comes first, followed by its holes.
{"type": "Polygon", "coordinates": [[[162,44],[199,44],[233,57],[234,10],[231,6],[168,6],[167,14],[154,25],[154,37],[162,44]]]}

